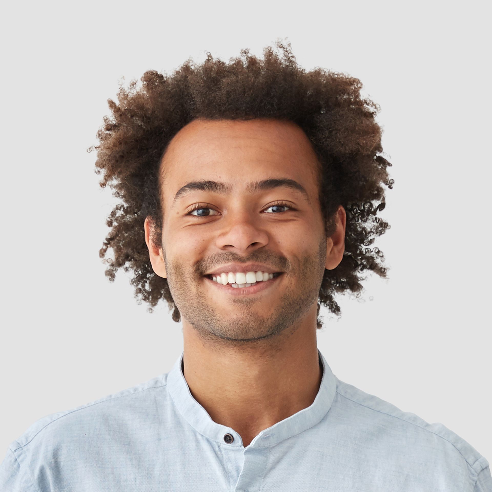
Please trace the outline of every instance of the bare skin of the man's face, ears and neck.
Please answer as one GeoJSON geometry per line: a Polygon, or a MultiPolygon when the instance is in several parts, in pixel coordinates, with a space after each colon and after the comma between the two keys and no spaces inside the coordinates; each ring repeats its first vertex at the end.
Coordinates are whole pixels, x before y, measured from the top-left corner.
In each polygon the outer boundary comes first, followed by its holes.
{"type": "Polygon", "coordinates": [[[197,119],[174,136],[161,163],[162,245],[151,243],[152,220],[145,219],[152,268],[167,278],[181,313],[190,391],[215,422],[241,435],[243,446],[310,406],[319,391],[318,294],[325,269],[342,260],[346,215],[339,206],[336,231],[326,238],[317,165],[295,123],[197,119]],[[299,182],[309,200],[287,187],[246,190],[268,178],[299,182]],[[232,192],[195,190],[172,206],[178,189],[199,179],[225,182],[232,192]],[[277,200],[295,210],[274,206],[277,200]],[[208,208],[186,215],[197,203],[208,208]],[[203,277],[234,261],[284,274],[250,296],[221,292],[203,277]]]}

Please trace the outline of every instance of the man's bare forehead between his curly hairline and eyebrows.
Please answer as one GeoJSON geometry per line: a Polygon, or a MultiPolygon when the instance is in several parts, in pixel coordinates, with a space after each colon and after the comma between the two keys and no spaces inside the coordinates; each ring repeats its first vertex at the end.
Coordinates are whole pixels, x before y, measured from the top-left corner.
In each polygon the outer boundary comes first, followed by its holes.
{"type": "Polygon", "coordinates": [[[317,189],[318,160],[303,130],[273,119],[202,120],[184,126],[162,161],[164,200],[190,181],[214,180],[246,190],[253,181],[290,178],[317,189]]]}

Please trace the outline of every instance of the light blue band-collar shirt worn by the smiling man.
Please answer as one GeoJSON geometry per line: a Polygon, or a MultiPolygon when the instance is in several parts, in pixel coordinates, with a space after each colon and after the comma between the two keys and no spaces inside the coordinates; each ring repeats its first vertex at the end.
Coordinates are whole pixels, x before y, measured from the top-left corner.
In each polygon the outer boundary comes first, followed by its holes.
{"type": "Polygon", "coordinates": [[[313,403],[246,448],[193,398],[182,353],[168,373],[36,421],[7,450],[0,491],[492,492],[464,439],[340,381],[318,353],[313,403]]]}

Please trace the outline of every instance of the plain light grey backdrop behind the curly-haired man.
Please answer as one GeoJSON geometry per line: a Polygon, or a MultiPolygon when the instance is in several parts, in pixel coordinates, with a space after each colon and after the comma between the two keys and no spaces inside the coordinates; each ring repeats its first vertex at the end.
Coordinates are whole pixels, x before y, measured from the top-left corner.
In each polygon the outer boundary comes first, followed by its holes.
{"type": "MultiPolygon", "coordinates": [[[[483,8],[481,7],[483,5],[483,8]]],[[[99,187],[96,132],[146,70],[206,52],[260,58],[277,38],[306,70],[357,77],[381,106],[394,188],[378,238],[388,279],[323,307],[333,373],[492,460],[490,38],[468,1],[10,2],[2,7],[0,453],[33,422],[168,372],[167,305],[137,305],[99,258],[119,201],[99,187]]],[[[143,223],[142,223],[143,227],[143,223]]],[[[110,252],[112,257],[112,251],[110,252]]]]}

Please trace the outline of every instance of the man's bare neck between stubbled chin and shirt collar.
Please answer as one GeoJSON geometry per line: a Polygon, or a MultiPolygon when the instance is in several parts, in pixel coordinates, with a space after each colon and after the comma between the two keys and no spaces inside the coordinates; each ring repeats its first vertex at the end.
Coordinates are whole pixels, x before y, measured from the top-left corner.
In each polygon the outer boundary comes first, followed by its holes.
{"type": "Polygon", "coordinates": [[[260,340],[247,349],[218,349],[185,320],[183,335],[183,373],[193,398],[214,422],[237,431],[244,446],[310,406],[318,394],[323,371],[315,323],[300,325],[282,341],[260,340]]]}

